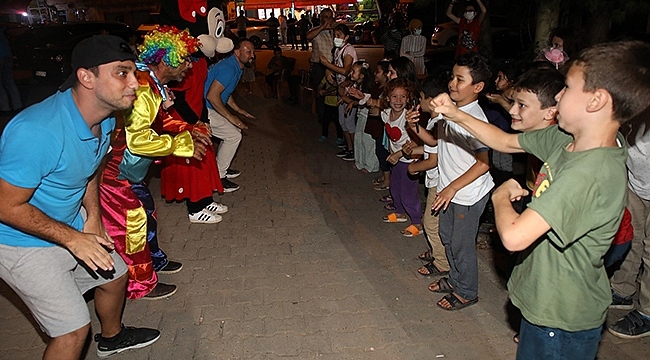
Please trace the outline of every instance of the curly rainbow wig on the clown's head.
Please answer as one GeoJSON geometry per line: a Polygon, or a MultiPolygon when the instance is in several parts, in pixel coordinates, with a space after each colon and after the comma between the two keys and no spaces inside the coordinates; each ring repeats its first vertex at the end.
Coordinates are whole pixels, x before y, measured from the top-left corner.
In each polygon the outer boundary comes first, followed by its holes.
{"type": "Polygon", "coordinates": [[[145,64],[164,62],[171,67],[181,65],[190,54],[199,50],[199,40],[188,30],[175,26],[161,26],[147,33],[138,47],[139,59],[145,64]]]}

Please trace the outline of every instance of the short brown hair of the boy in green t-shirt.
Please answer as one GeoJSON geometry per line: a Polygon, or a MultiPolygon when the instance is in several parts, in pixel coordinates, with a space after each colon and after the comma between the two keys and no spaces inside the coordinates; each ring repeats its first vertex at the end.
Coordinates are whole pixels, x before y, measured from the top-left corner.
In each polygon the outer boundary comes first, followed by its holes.
{"type": "Polygon", "coordinates": [[[582,67],[585,91],[609,92],[613,117],[620,123],[637,116],[650,104],[650,44],[598,44],[581,51],[572,66],[582,67]]]}

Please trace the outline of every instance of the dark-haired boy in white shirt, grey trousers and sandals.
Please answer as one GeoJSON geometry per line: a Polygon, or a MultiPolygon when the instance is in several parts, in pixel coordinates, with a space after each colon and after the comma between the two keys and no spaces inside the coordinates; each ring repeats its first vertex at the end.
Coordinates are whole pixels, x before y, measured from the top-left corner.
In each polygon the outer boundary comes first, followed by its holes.
{"type": "MultiPolygon", "coordinates": [[[[487,118],[478,105],[478,95],[490,80],[487,58],[477,53],[461,55],[452,70],[447,99],[456,102],[461,111],[481,119],[487,118]]],[[[426,105],[426,104],[424,104],[426,105]]],[[[430,109],[425,106],[424,111],[430,109]]],[[[407,114],[407,119],[417,111],[407,114]]],[[[432,117],[435,116],[432,113],[432,117]]],[[[438,193],[433,211],[439,213],[439,235],[449,262],[449,277],[429,285],[429,290],[447,294],[437,302],[444,310],[460,310],[478,302],[478,260],[476,235],[479,218],[485,209],[488,193],[494,182],[488,148],[459,125],[438,120],[438,193]]],[[[425,142],[432,135],[409,122],[411,129],[425,142]]],[[[431,210],[429,210],[431,211],[431,210]]]]}

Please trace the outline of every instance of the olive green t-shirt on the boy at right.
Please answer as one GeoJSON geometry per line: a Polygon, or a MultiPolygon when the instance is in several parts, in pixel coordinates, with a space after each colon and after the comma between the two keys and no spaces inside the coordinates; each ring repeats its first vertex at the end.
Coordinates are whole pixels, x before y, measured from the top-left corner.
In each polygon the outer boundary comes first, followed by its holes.
{"type": "Polygon", "coordinates": [[[513,304],[539,326],[565,331],[605,322],[612,300],[603,256],[625,206],[627,151],[566,150],[573,138],[557,125],[522,133],[519,144],[544,162],[528,208],[551,230],[523,251],[508,282],[513,304]]]}

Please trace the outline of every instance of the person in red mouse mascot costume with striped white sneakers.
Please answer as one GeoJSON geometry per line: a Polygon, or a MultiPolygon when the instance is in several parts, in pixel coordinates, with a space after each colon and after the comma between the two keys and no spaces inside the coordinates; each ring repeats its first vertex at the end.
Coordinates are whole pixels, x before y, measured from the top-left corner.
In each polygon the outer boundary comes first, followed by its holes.
{"type": "MultiPolygon", "coordinates": [[[[208,73],[207,58],[215,53],[232,50],[232,41],[224,37],[225,20],[216,7],[207,10],[208,2],[163,1],[161,23],[188,28],[200,40],[201,54],[193,57],[192,69],[183,81],[173,84],[176,97],[169,109],[174,118],[188,124],[209,122],[203,97],[203,84],[208,73]]],[[[191,223],[213,224],[222,220],[228,207],[215,202],[214,191],[223,192],[212,147],[208,147],[202,160],[168,156],[163,160],[161,194],[167,201],[185,201],[191,223]]]]}

